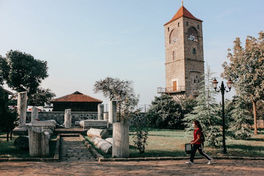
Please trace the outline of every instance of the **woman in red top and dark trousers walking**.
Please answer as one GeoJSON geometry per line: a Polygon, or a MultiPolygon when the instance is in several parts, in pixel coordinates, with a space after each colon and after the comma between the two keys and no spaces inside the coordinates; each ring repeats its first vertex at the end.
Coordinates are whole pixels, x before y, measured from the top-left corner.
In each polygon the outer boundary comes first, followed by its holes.
{"type": "Polygon", "coordinates": [[[194,140],[191,141],[191,144],[193,144],[193,148],[192,148],[190,161],[188,161],[186,163],[187,164],[193,164],[194,163],[194,156],[195,156],[195,153],[198,149],[199,153],[208,159],[207,164],[211,164],[213,158],[211,158],[208,154],[206,154],[204,152],[204,148],[203,148],[204,144],[203,144],[203,140],[201,139],[203,129],[201,127],[200,122],[198,120],[194,120],[193,127],[194,127],[194,140]]]}

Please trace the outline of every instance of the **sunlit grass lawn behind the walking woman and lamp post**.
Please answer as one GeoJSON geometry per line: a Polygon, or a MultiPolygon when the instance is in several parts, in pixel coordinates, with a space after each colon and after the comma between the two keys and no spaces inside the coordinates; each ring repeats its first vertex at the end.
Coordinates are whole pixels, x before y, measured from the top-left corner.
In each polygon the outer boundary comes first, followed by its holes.
{"type": "MultiPolygon", "coordinates": [[[[188,156],[185,154],[185,144],[192,139],[186,137],[187,132],[181,130],[150,129],[147,139],[147,146],[144,154],[140,154],[134,147],[132,132],[129,136],[130,157],[160,157],[160,156],[188,156]]],[[[252,131],[253,133],[253,131],[252,131]]],[[[90,137],[85,137],[91,139],[90,137]]],[[[257,136],[248,140],[226,139],[227,152],[230,156],[264,157],[264,130],[258,130],[257,136]]],[[[99,152],[100,150],[97,149],[99,152]]],[[[221,147],[214,148],[205,142],[205,152],[212,156],[221,156],[221,147]]],[[[111,154],[104,154],[110,158],[111,154]]],[[[196,156],[200,156],[197,151],[196,156]]]]}

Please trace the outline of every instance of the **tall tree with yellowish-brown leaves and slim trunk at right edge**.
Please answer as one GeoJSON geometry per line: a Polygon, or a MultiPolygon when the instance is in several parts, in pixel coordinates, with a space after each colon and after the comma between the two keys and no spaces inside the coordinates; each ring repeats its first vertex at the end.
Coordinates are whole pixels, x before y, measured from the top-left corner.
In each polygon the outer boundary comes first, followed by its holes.
{"type": "Polygon", "coordinates": [[[264,99],[264,33],[258,34],[257,39],[247,36],[245,48],[242,48],[240,38],[236,38],[233,53],[228,49],[229,63],[223,63],[224,72],[221,74],[223,78],[233,80],[239,96],[252,102],[254,135],[257,135],[256,102],[264,99]]]}

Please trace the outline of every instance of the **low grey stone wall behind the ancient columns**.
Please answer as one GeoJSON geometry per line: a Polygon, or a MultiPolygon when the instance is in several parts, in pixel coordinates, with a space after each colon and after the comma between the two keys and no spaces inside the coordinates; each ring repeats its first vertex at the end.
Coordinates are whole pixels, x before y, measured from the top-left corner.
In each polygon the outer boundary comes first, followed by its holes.
{"type": "MultiPolygon", "coordinates": [[[[97,112],[71,112],[71,123],[81,120],[97,120],[97,112]]],[[[130,119],[130,126],[134,126],[135,119],[144,120],[146,113],[134,114],[130,119]]],[[[64,112],[39,112],[39,120],[55,120],[57,124],[62,125],[64,122],[64,112]]],[[[27,112],[27,123],[30,123],[31,112],[27,112]]]]}

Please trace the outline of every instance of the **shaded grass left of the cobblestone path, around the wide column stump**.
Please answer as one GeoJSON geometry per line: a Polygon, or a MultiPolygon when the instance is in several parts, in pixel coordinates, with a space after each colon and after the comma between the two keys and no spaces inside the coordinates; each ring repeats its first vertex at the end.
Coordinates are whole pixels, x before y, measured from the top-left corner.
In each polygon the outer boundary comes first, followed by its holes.
{"type": "MultiPolygon", "coordinates": [[[[7,134],[6,133],[0,133],[0,157],[30,157],[29,156],[29,149],[21,149],[21,148],[16,148],[14,146],[14,141],[16,140],[18,136],[13,135],[12,140],[9,140],[7,142],[7,134]]],[[[57,135],[54,135],[51,137],[51,140],[49,141],[49,151],[50,151],[50,156],[54,156],[55,152],[55,147],[56,147],[56,138],[57,135]]]]}

